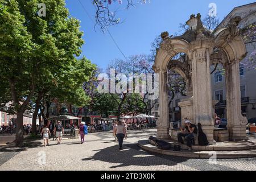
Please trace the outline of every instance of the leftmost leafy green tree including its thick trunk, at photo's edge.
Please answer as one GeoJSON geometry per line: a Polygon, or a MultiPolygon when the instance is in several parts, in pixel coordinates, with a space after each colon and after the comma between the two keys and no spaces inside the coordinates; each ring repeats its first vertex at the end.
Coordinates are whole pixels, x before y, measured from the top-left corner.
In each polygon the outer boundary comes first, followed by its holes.
{"type": "Polygon", "coordinates": [[[2,106],[12,101],[17,114],[16,144],[23,140],[23,113],[35,92],[38,64],[31,59],[38,47],[32,42],[17,1],[0,1],[0,85],[2,106]]]}

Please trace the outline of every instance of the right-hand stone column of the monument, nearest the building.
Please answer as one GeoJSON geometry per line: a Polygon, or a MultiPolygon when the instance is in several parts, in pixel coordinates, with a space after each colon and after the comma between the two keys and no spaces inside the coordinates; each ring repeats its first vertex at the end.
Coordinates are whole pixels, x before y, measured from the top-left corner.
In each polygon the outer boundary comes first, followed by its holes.
{"type": "Polygon", "coordinates": [[[239,61],[225,65],[226,115],[230,140],[246,139],[246,117],[241,114],[239,61]]]}

